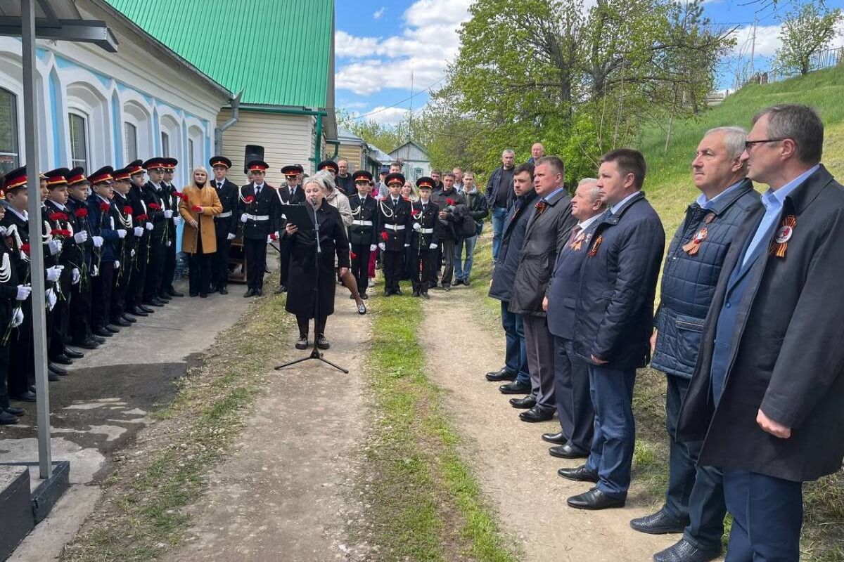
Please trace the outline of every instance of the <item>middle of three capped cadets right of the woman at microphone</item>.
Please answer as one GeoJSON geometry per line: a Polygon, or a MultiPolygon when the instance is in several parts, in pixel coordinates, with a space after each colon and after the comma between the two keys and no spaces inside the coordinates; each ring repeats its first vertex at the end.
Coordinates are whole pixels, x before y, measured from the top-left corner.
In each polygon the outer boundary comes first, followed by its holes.
{"type": "Polygon", "coordinates": [[[404,201],[402,174],[387,174],[387,197],[378,201],[378,229],[381,237],[381,262],[384,271],[384,296],[401,295],[398,280],[402,276],[404,249],[410,246],[410,203],[404,201]]]}

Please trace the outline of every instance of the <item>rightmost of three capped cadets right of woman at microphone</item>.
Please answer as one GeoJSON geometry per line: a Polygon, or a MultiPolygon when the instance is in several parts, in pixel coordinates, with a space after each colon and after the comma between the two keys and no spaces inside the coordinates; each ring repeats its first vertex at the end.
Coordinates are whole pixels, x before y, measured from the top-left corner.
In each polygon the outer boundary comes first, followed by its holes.
{"type": "Polygon", "coordinates": [[[439,253],[436,251],[439,240],[436,238],[436,221],[440,214],[440,207],[430,201],[431,191],[434,189],[434,179],[423,176],[416,180],[419,188],[419,201],[415,201],[410,214],[413,221],[413,234],[410,248],[414,260],[411,262],[411,280],[414,284],[414,297],[427,300],[428,280],[433,275],[434,266],[439,253]]]}

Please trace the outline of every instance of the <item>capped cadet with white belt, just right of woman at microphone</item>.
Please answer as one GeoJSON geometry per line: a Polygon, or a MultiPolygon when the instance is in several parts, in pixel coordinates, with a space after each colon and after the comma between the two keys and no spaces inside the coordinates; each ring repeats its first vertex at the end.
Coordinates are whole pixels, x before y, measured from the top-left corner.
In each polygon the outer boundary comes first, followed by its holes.
{"type": "Polygon", "coordinates": [[[366,170],[358,170],[352,174],[357,195],[349,196],[349,206],[352,208],[352,226],[349,227],[349,244],[352,248],[352,275],[358,283],[360,298],[366,295],[369,283],[369,256],[378,244],[378,201],[370,195],[372,190],[372,174],[366,170]]]}

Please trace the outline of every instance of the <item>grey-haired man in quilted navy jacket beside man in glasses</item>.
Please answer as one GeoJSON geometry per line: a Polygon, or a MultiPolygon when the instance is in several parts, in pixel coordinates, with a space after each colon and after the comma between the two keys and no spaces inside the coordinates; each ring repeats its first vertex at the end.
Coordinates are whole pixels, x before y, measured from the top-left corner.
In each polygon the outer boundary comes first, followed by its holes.
{"type": "Polygon", "coordinates": [[[683,538],[655,554],[655,562],[706,562],[721,554],[727,509],[721,472],[713,467],[695,469],[701,442],[680,443],[675,429],[724,256],[739,225],[760,205],[740,160],[746,137],[738,127],[706,132],[692,161],[693,181],[701,195],[686,211],[663,265],[651,367],[664,372],[668,380],[668,490],[662,509],[634,519],[630,527],[642,533],[683,533],[683,538]]]}

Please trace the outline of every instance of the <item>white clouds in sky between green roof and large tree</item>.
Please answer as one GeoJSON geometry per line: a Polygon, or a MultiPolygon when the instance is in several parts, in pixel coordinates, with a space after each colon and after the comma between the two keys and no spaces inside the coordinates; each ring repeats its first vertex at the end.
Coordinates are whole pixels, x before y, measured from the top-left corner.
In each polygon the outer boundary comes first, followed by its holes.
{"type": "Polygon", "coordinates": [[[416,0],[403,13],[400,32],[386,38],[338,31],[337,56],[350,60],[338,64],[337,88],[359,95],[375,94],[383,88],[409,89],[411,71],[414,92],[435,83],[457,56],[457,30],[468,20],[472,2],[416,0]]]}

